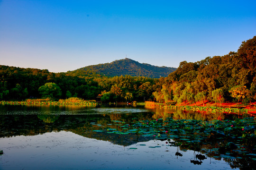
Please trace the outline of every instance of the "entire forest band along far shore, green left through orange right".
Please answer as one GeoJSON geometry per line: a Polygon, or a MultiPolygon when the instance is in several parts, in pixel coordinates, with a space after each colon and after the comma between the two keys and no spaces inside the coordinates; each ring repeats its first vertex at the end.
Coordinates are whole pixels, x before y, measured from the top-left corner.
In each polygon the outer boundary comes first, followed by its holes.
{"type": "MultiPolygon", "coordinates": [[[[122,69],[121,67],[119,69],[122,69]]],[[[102,76],[92,70],[51,73],[35,68],[0,66],[0,100],[51,97],[96,99],[103,102],[254,102],[256,101],[256,36],[237,52],[182,61],[167,77],[102,76]],[[52,93],[51,96],[48,94],[52,93]]],[[[150,72],[150,71],[149,71],[150,72]]]]}

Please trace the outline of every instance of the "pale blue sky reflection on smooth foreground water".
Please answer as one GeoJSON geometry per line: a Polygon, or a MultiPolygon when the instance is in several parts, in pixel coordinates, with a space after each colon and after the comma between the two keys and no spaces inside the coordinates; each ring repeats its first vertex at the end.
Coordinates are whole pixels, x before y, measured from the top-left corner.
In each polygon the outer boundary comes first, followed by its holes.
{"type": "Polygon", "coordinates": [[[5,149],[0,156],[1,170],[230,169],[225,161],[210,164],[209,158],[195,166],[190,162],[193,151],[180,151],[183,156],[177,159],[176,147],[159,140],[122,146],[60,131],[2,138],[0,142],[5,149]]]}

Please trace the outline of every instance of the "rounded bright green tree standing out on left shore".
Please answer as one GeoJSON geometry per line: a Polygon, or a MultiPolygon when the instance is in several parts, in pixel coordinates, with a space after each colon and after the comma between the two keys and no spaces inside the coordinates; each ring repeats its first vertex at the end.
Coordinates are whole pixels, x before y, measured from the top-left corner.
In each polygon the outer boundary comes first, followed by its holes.
{"type": "Polygon", "coordinates": [[[46,83],[38,89],[42,98],[50,98],[51,100],[57,100],[61,96],[61,88],[55,83],[46,83]]]}

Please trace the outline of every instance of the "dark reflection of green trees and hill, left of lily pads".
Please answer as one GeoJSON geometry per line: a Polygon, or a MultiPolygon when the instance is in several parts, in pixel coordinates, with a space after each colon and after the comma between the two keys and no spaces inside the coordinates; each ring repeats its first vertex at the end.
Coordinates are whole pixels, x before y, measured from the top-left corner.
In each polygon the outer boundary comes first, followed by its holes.
{"type": "Polygon", "coordinates": [[[75,134],[110,141],[119,145],[135,144],[147,141],[137,135],[118,135],[107,133],[108,128],[119,128],[112,120],[129,123],[137,119],[152,119],[147,113],[135,114],[104,114],[104,115],[0,115],[0,137],[33,136],[51,131],[71,131],[75,134]],[[95,132],[102,127],[104,132],[95,132]]]}

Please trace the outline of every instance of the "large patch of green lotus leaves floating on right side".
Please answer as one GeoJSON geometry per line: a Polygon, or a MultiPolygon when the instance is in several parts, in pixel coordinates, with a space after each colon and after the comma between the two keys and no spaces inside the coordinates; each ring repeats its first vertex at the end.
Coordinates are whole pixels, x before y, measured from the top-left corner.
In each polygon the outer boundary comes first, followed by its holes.
{"type": "MultiPolygon", "coordinates": [[[[136,135],[166,141],[170,146],[182,146],[183,150],[200,151],[215,157],[234,158],[234,155],[248,154],[251,160],[256,160],[256,118],[236,120],[192,120],[168,118],[155,120],[137,120],[127,124],[112,120],[118,128],[108,128],[107,133],[119,135],[136,135]],[[207,149],[214,145],[215,150],[207,149]]],[[[101,133],[104,133],[102,129],[101,133]]],[[[179,152],[175,154],[181,156],[179,152]]],[[[206,159],[204,155],[195,155],[196,159],[206,159]]],[[[192,163],[199,163],[192,161],[192,163]]]]}

